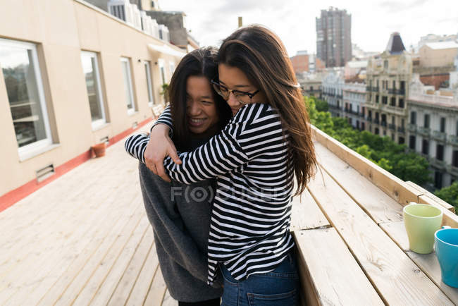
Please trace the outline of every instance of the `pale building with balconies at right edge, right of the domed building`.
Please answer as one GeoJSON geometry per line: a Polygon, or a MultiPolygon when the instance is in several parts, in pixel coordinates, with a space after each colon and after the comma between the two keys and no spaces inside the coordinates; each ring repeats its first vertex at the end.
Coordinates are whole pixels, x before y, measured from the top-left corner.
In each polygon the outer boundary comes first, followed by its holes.
{"type": "Polygon", "coordinates": [[[415,74],[409,85],[409,148],[428,159],[433,185],[440,189],[458,177],[458,90],[442,95],[415,74]]]}

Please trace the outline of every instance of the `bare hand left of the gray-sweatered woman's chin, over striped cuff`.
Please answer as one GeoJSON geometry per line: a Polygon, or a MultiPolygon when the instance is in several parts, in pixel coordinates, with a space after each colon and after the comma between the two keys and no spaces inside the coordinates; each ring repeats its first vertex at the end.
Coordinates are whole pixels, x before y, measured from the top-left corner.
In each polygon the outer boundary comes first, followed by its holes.
{"type": "Polygon", "coordinates": [[[158,124],[154,126],[149,134],[149,142],[144,150],[144,163],[148,169],[153,171],[154,174],[161,176],[163,180],[168,182],[171,178],[166,174],[166,169],[163,166],[163,160],[166,157],[171,157],[175,164],[181,164],[180,157],[178,157],[175,145],[170,137],[168,137],[168,126],[165,124],[158,124]]]}

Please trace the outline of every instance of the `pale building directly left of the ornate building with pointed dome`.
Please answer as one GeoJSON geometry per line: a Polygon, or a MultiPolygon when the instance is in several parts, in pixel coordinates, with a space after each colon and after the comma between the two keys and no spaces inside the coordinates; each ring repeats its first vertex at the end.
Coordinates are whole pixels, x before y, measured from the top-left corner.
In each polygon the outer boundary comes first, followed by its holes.
{"type": "Polygon", "coordinates": [[[344,116],[358,130],[366,130],[366,83],[345,82],[342,88],[344,116]]]}

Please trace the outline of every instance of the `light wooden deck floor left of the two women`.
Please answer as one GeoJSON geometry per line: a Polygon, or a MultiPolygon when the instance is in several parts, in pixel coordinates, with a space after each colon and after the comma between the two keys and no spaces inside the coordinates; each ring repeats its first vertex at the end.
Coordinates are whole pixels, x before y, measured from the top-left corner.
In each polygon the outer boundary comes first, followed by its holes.
{"type": "Polygon", "coordinates": [[[178,305],[123,143],[0,213],[0,305],[178,305]]]}

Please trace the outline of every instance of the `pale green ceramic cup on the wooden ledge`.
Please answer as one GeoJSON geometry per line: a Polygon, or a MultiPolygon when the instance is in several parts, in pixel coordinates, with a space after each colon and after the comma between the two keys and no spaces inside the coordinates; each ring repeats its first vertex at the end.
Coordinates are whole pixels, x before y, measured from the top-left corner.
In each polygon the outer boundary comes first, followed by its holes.
{"type": "Polygon", "coordinates": [[[442,210],[428,204],[410,202],[404,207],[403,216],[410,250],[419,254],[433,252],[434,233],[442,224],[442,210]]]}

